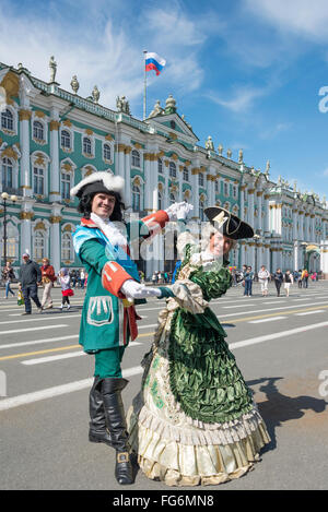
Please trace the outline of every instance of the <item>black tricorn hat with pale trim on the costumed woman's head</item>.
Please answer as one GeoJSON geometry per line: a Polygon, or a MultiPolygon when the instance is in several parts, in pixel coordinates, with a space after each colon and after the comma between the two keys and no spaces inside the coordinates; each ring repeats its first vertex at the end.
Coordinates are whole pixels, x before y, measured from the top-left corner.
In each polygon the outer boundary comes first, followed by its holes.
{"type": "Polygon", "coordinates": [[[204,214],[210,223],[215,228],[221,228],[222,234],[227,238],[239,240],[241,238],[254,237],[254,229],[249,224],[244,223],[239,217],[233,215],[221,206],[210,206],[204,209],[204,214]]]}

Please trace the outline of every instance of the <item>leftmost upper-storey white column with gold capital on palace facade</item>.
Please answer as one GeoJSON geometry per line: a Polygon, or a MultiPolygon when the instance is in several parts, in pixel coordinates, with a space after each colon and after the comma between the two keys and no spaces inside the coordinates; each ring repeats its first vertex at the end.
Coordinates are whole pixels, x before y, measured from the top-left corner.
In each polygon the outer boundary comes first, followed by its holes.
{"type": "Polygon", "coordinates": [[[23,188],[23,195],[31,197],[32,179],[30,166],[30,119],[32,111],[28,109],[21,109],[20,116],[20,145],[21,145],[21,187],[23,188]]]}

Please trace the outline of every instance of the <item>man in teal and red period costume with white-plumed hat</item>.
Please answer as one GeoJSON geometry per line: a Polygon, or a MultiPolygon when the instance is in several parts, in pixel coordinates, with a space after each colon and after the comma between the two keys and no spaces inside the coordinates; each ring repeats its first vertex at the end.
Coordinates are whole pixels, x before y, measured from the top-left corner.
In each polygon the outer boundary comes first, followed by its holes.
{"type": "Polygon", "coordinates": [[[85,267],[87,289],[84,299],[79,343],[95,355],[94,383],[90,392],[90,433],[92,442],[116,449],[115,476],[119,484],[132,484],[120,362],[129,340],[138,335],[134,300],[161,297],[159,288],[139,283],[129,242],[160,233],[186,203],[175,203],[141,221],[122,222],[124,179],[109,172],[94,172],[72,190],[80,200],[81,225],[73,234],[77,254],[85,267]]]}

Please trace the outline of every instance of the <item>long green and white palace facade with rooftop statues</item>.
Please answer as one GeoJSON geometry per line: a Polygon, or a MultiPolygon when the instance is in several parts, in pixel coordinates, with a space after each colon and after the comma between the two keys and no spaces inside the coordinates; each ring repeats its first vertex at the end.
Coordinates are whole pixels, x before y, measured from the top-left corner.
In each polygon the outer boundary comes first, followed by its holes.
{"type": "MultiPolygon", "coordinates": [[[[131,116],[124,96],[117,98],[117,110],[99,105],[96,86],[87,98],[79,96],[75,76],[72,92],[62,90],[55,80],[52,58],[49,64],[47,83],[22,64],[0,63],[0,187],[9,194],[5,248],[14,266],[25,251],[37,262],[48,257],[56,271],[81,266],[72,246],[80,217],[70,189],[85,176],[106,170],[125,178],[126,209],[132,215],[186,200],[194,204],[196,224],[213,204],[248,222],[256,235],[236,247],[232,265],[246,263],[257,271],[265,264],[270,271],[284,271],[306,264],[328,278],[325,198],[301,193],[282,179],[274,183],[269,162],[263,172],[256,170],[244,163],[242,150],[234,159],[231,150],[215,150],[211,136],[202,146],[177,112],[173,96],[164,107],[157,102],[141,121],[131,116]],[[19,200],[12,201],[11,194],[19,200]]],[[[2,237],[3,221],[2,201],[2,237]]],[[[174,267],[174,233],[164,238],[138,249],[147,276],[174,267]]],[[[3,264],[3,243],[1,249],[3,264]]]]}

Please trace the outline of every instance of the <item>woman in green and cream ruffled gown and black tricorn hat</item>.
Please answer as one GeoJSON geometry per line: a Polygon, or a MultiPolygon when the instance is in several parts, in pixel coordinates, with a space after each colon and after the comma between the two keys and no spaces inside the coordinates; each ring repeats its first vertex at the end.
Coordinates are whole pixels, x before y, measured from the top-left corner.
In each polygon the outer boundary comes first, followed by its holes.
{"type": "Polygon", "coordinates": [[[141,391],[128,413],[130,444],[141,469],[168,486],[238,478],[270,441],[226,334],[208,307],[232,284],[226,255],[234,240],[254,231],[223,209],[204,212],[211,224],[202,246],[188,231],[178,237],[183,263],[174,297],[160,313],[154,343],[142,361],[141,391]]]}

